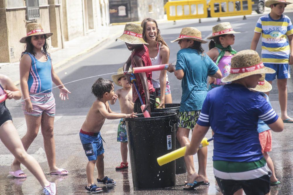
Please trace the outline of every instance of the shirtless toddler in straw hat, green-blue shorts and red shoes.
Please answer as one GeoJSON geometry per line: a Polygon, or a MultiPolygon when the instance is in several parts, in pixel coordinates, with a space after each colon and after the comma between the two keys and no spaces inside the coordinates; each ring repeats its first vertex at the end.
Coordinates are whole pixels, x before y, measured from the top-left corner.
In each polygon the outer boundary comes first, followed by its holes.
{"type": "MultiPolygon", "coordinates": [[[[127,81],[123,74],[123,68],[117,70],[117,75],[112,75],[112,80],[115,84],[122,87],[122,89],[117,89],[110,103],[113,105],[117,98],[119,99],[121,113],[130,114],[133,112],[133,102],[132,102],[132,89],[131,84],[127,81]]],[[[116,170],[128,168],[127,162],[127,133],[126,133],[126,123],[125,120],[121,118],[118,125],[117,141],[120,142],[120,151],[122,162],[120,166],[116,167],[116,170]]]]}

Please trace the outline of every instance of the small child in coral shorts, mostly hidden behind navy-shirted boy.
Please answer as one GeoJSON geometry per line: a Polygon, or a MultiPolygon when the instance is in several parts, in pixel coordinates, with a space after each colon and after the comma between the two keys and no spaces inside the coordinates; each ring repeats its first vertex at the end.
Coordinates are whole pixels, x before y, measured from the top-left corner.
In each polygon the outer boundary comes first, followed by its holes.
{"type": "MultiPolygon", "coordinates": [[[[258,81],[258,84],[255,88],[251,88],[253,91],[256,92],[269,92],[272,90],[272,85],[265,80],[265,74],[262,74],[260,80],[258,81]]],[[[269,96],[265,93],[263,93],[263,97],[266,99],[266,101],[271,106],[269,96]]],[[[265,157],[265,160],[267,161],[268,167],[272,171],[272,176],[270,177],[271,186],[272,185],[278,185],[281,182],[278,181],[275,175],[275,168],[272,159],[268,155],[268,152],[272,151],[272,134],[270,127],[265,124],[262,120],[258,119],[258,133],[259,133],[259,141],[261,146],[261,151],[263,153],[263,157],[265,157]]]]}

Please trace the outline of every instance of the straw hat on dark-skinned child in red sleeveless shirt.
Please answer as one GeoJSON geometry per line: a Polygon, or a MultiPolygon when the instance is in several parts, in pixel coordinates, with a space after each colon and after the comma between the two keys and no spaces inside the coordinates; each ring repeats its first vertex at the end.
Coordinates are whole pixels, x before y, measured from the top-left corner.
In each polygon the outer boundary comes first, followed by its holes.
{"type": "Polygon", "coordinates": [[[124,27],[123,34],[115,39],[115,41],[117,40],[129,44],[148,44],[142,38],[142,27],[135,23],[127,23],[124,27]]]}

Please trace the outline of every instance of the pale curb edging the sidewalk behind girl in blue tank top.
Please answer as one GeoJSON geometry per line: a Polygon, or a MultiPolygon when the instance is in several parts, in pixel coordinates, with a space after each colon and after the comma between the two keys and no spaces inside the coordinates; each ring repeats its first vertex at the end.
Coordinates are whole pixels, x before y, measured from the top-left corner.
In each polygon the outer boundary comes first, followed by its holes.
{"type": "MultiPolygon", "coordinates": [[[[96,44],[93,44],[92,46],[88,47],[87,49],[84,49],[83,51],[81,51],[81,52],[79,52],[79,53],[77,53],[77,54],[74,54],[74,55],[72,55],[72,56],[70,56],[70,57],[68,57],[68,58],[66,58],[66,59],[64,59],[64,60],[62,60],[62,61],[60,61],[60,62],[55,63],[55,64],[53,65],[53,66],[54,66],[54,70],[57,70],[60,66],[64,65],[64,64],[67,63],[68,61],[70,61],[70,60],[72,60],[72,59],[74,59],[74,58],[77,58],[77,57],[79,57],[79,56],[81,56],[81,55],[84,55],[84,54],[90,52],[90,50],[96,48],[96,47],[99,46],[100,44],[103,44],[103,43],[108,42],[108,41],[111,41],[111,40],[114,41],[115,38],[116,38],[119,34],[121,34],[121,32],[117,32],[117,33],[112,34],[112,35],[110,35],[110,36],[108,36],[108,37],[102,38],[101,40],[99,40],[98,42],[96,42],[96,44]]],[[[15,84],[16,86],[19,86],[19,84],[20,84],[20,80],[17,80],[16,82],[14,82],[14,84],[15,84]]]]}

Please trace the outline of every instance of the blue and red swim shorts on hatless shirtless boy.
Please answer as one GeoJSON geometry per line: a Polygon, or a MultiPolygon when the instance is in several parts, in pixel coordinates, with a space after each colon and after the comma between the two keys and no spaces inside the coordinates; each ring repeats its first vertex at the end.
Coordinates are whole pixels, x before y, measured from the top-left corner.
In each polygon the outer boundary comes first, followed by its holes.
{"type": "Polygon", "coordinates": [[[86,157],[88,157],[88,161],[97,160],[97,156],[100,156],[105,152],[100,132],[85,132],[81,129],[79,132],[79,138],[86,153],[86,157]]]}

